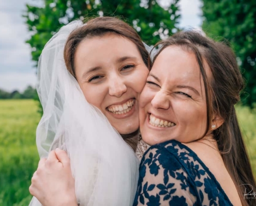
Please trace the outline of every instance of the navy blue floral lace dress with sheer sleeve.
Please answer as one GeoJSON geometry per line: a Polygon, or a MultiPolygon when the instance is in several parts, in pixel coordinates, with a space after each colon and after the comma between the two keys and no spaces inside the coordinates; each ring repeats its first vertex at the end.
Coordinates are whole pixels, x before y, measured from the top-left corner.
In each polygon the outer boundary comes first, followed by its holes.
{"type": "Polygon", "coordinates": [[[151,146],[140,164],[133,206],[233,205],[199,157],[175,140],[151,146]]]}

